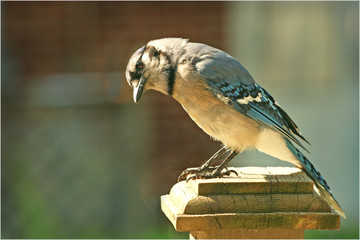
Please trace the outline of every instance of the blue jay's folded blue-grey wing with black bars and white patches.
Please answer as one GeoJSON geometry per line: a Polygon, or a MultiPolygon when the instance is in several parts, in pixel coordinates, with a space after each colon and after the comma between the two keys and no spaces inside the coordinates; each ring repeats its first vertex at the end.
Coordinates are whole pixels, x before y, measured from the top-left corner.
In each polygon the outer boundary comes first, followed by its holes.
{"type": "Polygon", "coordinates": [[[211,54],[199,56],[193,64],[195,70],[206,79],[209,90],[238,112],[280,132],[305,149],[294,135],[304,141],[306,139],[274,98],[255,83],[248,71],[236,59],[221,50],[214,48],[210,50],[206,52],[211,54]]]}

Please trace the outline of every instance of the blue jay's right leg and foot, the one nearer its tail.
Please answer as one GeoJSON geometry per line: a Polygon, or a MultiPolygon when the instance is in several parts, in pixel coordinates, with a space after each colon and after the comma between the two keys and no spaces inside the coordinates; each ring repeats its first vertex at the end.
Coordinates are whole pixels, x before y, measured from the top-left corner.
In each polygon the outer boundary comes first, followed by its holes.
{"type": "Polygon", "coordinates": [[[215,178],[215,177],[223,177],[223,176],[229,176],[230,173],[235,173],[236,175],[237,172],[234,170],[227,170],[226,166],[228,165],[228,163],[234,159],[234,157],[238,155],[238,152],[236,151],[231,151],[231,153],[227,156],[227,158],[225,158],[225,160],[219,165],[217,166],[212,172],[197,172],[192,174],[191,176],[187,177],[186,181],[189,181],[190,179],[199,179],[199,178],[215,178]],[[226,171],[222,171],[223,169],[226,169],[226,171]]]}

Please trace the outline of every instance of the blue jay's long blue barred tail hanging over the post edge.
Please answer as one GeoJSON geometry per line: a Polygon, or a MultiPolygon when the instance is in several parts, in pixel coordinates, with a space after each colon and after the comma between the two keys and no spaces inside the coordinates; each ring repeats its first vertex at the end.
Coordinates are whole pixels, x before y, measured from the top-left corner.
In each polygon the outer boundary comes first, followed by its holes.
{"type": "Polygon", "coordinates": [[[346,218],[344,211],[341,209],[339,203],[336,201],[330,191],[330,187],[321,176],[318,170],[312,165],[312,163],[289,141],[286,140],[286,145],[294,156],[299,160],[301,166],[299,166],[315,183],[320,195],[323,199],[334,209],[340,216],[346,218]]]}

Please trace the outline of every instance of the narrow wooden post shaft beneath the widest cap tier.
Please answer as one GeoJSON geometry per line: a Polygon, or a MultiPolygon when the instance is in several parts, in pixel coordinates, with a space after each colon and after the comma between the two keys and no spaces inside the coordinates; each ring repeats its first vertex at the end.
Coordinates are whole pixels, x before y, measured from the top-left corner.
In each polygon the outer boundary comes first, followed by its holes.
{"type": "Polygon", "coordinates": [[[216,230],[193,231],[190,239],[302,239],[304,230],[295,229],[259,229],[259,230],[216,230]]]}

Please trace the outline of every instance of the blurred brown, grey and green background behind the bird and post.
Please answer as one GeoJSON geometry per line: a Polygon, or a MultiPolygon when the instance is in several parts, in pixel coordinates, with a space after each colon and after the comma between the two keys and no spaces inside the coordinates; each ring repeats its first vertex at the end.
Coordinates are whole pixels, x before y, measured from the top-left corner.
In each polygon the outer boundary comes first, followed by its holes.
{"type": "Polygon", "coordinates": [[[359,237],[358,2],[1,2],[1,36],[2,238],[188,238],[160,196],[220,144],[124,73],[168,36],[229,52],[312,143],[347,219],[305,237],[359,237]]]}

